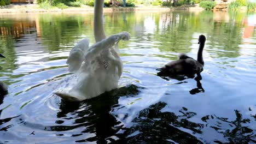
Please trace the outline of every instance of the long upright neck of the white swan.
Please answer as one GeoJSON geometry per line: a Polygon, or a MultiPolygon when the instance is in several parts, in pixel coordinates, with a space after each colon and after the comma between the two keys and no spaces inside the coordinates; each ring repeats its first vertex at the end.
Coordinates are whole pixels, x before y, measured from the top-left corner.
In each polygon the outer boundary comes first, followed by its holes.
{"type": "Polygon", "coordinates": [[[94,37],[96,42],[106,39],[103,25],[103,3],[104,0],[95,0],[94,3],[94,37]]]}

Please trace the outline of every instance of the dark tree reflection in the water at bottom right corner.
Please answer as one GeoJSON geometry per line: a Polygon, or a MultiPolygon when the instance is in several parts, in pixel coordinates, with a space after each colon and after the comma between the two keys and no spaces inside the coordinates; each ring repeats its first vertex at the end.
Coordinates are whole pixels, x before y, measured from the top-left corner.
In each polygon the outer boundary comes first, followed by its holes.
{"type": "MultiPolygon", "coordinates": [[[[243,124],[253,121],[248,118],[242,118],[242,114],[238,110],[235,110],[235,114],[235,121],[228,121],[228,118],[209,115],[202,117],[202,121],[207,122],[210,121],[210,119],[216,119],[217,124],[212,125],[212,123],[208,123],[206,125],[210,125],[210,127],[215,129],[218,133],[223,134],[223,136],[228,139],[229,143],[256,143],[255,130],[243,126],[243,124]],[[225,127],[222,127],[222,125],[225,125],[225,127]],[[226,126],[229,126],[229,128],[226,128],[226,126]]],[[[254,117],[254,121],[256,121],[256,115],[252,117],[254,117]]],[[[223,143],[218,140],[214,142],[223,143]]]]}

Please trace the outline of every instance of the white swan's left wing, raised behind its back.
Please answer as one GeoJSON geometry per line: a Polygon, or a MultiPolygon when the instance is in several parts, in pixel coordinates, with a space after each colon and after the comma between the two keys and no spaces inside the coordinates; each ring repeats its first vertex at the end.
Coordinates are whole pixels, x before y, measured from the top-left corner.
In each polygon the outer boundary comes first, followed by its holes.
{"type": "Polygon", "coordinates": [[[69,52],[67,59],[68,70],[70,73],[76,73],[84,61],[85,52],[89,49],[89,39],[85,38],[78,41],[69,52]]]}

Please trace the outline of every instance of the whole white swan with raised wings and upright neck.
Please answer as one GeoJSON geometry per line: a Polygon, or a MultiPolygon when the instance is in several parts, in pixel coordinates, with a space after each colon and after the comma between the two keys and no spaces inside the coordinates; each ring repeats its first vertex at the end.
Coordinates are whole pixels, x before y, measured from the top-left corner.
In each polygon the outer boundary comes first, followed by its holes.
{"type": "Polygon", "coordinates": [[[118,43],[120,40],[129,40],[130,34],[121,32],[106,38],[102,17],[103,2],[95,1],[94,34],[97,43],[89,47],[89,40],[83,39],[69,53],[69,71],[78,74],[79,77],[68,93],[55,93],[63,99],[90,99],[118,87],[118,80],[123,71],[118,43]]]}

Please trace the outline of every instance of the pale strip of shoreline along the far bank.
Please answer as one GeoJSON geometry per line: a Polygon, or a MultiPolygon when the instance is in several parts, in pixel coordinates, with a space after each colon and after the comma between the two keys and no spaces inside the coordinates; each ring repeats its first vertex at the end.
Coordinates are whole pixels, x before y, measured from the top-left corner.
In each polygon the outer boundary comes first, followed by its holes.
{"type": "MultiPolygon", "coordinates": [[[[167,7],[127,7],[127,8],[104,8],[104,12],[113,12],[113,11],[174,11],[174,10],[188,10],[188,11],[202,11],[200,7],[176,7],[176,8],[167,8],[167,7]]],[[[67,9],[42,9],[38,8],[37,4],[27,4],[27,5],[11,5],[10,8],[0,8],[0,14],[7,13],[72,13],[72,12],[88,12],[93,13],[93,7],[79,7],[79,8],[67,8],[67,9]]]]}

